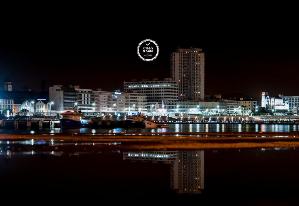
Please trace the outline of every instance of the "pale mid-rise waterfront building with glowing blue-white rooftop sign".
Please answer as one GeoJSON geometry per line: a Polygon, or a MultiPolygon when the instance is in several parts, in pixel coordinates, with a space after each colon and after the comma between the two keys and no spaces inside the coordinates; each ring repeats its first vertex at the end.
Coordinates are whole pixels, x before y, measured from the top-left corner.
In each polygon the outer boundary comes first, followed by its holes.
{"type": "Polygon", "coordinates": [[[147,113],[147,96],[139,93],[93,91],[94,111],[99,115],[147,113]]]}

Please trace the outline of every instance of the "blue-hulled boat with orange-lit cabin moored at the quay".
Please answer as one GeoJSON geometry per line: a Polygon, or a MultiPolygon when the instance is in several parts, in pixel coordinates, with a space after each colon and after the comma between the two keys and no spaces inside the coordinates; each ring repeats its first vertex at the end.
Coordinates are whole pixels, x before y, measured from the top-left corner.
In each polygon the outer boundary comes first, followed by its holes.
{"type": "Polygon", "coordinates": [[[61,128],[83,128],[83,127],[92,127],[93,124],[91,121],[84,120],[84,113],[77,112],[77,109],[74,108],[74,111],[65,111],[60,114],[60,126],[61,128]]]}

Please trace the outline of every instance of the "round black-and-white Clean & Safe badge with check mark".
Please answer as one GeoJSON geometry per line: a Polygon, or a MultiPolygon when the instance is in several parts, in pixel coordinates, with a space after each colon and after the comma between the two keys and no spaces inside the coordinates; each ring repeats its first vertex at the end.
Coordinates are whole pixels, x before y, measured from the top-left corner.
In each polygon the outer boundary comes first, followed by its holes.
{"type": "Polygon", "coordinates": [[[153,61],[159,54],[159,46],[155,41],[145,39],[138,44],[137,53],[143,61],[153,61]]]}

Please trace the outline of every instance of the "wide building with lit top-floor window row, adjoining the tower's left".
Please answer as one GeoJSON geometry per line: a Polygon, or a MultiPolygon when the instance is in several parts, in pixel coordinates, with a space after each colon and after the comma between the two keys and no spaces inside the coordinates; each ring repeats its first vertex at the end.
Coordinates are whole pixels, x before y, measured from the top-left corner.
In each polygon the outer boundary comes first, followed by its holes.
{"type": "Polygon", "coordinates": [[[152,79],[152,81],[132,79],[130,82],[123,82],[123,91],[145,94],[148,102],[156,102],[159,100],[178,100],[179,87],[171,78],[152,79]]]}

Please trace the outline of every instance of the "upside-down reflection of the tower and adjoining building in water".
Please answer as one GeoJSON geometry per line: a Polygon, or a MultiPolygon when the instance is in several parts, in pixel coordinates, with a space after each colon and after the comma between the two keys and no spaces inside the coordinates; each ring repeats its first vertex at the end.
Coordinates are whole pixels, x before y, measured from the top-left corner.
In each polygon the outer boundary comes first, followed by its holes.
{"type": "Polygon", "coordinates": [[[204,151],[129,151],[124,160],[170,164],[170,188],[178,193],[201,193],[204,189],[204,151]]]}

